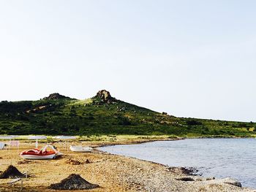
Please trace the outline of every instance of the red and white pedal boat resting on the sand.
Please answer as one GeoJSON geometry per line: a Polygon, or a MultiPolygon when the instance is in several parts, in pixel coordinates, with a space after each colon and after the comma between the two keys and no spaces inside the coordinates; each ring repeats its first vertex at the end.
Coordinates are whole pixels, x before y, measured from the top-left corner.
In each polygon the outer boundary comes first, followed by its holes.
{"type": "Polygon", "coordinates": [[[52,145],[45,145],[41,150],[24,150],[20,153],[20,157],[24,159],[52,159],[59,155],[63,155],[63,153],[60,153],[52,145]],[[47,150],[48,148],[51,150],[47,150]]]}

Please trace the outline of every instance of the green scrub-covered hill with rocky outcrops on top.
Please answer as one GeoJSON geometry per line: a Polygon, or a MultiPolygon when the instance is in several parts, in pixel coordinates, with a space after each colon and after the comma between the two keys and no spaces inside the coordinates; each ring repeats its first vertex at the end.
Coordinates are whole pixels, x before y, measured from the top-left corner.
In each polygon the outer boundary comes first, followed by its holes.
{"type": "Polygon", "coordinates": [[[38,101],[1,101],[0,134],[255,137],[256,123],[176,118],[120,101],[102,90],[86,100],[53,93],[38,101]]]}

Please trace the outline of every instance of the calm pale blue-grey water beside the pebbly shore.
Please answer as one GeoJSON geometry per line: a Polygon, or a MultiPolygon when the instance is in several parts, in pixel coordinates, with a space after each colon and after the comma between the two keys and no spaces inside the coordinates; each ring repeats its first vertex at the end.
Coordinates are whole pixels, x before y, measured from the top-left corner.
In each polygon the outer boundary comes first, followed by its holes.
{"type": "Polygon", "coordinates": [[[100,147],[167,166],[194,167],[203,177],[232,177],[256,188],[256,139],[182,139],[100,147]]]}

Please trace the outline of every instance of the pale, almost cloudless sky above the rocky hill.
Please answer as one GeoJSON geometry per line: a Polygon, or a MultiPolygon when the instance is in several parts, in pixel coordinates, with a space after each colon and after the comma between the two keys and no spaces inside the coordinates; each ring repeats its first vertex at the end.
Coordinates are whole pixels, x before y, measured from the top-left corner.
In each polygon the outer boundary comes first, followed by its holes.
{"type": "Polygon", "coordinates": [[[256,1],[0,1],[0,101],[112,96],[256,121],[256,1]]]}

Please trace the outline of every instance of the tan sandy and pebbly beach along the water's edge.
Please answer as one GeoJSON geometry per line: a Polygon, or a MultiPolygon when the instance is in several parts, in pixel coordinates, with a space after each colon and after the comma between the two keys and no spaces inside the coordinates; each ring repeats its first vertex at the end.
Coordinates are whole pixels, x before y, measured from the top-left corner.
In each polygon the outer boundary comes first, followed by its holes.
{"type": "MultiPolygon", "coordinates": [[[[83,145],[101,146],[146,142],[148,139],[119,142],[83,142],[83,145]]],[[[81,143],[80,143],[81,144],[81,143]]],[[[233,180],[218,180],[188,175],[184,169],[169,168],[161,164],[141,161],[120,155],[94,150],[92,153],[74,153],[62,144],[55,143],[64,155],[54,160],[27,160],[18,155],[18,149],[0,150],[0,171],[12,164],[31,177],[23,179],[23,191],[54,191],[48,186],[59,183],[69,174],[80,174],[100,187],[88,191],[255,191],[236,186],[233,180]],[[86,162],[87,161],[87,162],[86,162]]],[[[42,146],[42,144],[40,145],[42,146]]],[[[21,142],[20,151],[34,147],[34,143],[21,142]]],[[[0,180],[0,191],[20,191],[21,182],[0,180]]]]}

